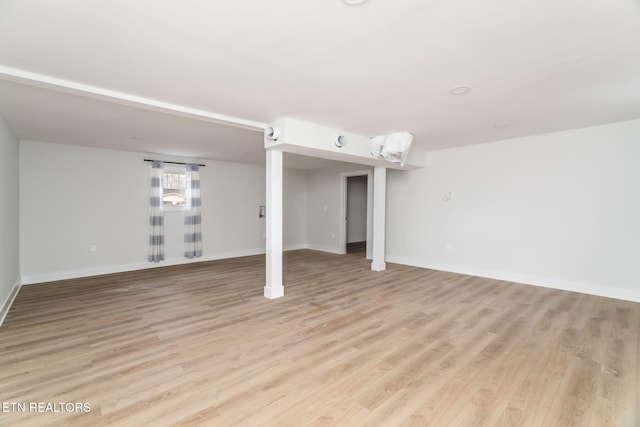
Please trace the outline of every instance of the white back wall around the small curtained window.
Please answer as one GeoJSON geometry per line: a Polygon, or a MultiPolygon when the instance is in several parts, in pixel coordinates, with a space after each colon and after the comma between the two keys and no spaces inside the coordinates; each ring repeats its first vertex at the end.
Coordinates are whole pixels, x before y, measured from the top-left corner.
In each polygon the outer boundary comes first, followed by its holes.
{"type": "MultiPolygon", "coordinates": [[[[30,141],[20,143],[20,155],[24,283],[189,262],[180,211],[165,212],[167,261],[146,261],[149,164],[143,159],[149,155],[30,141]]],[[[203,257],[196,261],[264,253],[258,207],[264,204],[265,168],[204,163],[203,257]]],[[[299,185],[289,187],[286,203],[297,208],[304,194],[299,185]]],[[[285,208],[285,215],[298,213],[285,208]]],[[[285,226],[285,244],[304,242],[304,219],[292,224],[285,226]]]]}

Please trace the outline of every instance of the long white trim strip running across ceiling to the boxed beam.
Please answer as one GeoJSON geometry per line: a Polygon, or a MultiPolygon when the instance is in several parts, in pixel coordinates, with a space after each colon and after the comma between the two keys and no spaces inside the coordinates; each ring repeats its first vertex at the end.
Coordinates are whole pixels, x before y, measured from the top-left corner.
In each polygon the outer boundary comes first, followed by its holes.
{"type": "Polygon", "coordinates": [[[57,92],[83,96],[85,98],[98,99],[100,101],[113,102],[115,104],[127,105],[129,107],[158,111],[161,113],[172,114],[174,116],[233,126],[241,129],[262,131],[266,127],[266,124],[261,122],[212,113],[210,111],[185,107],[184,105],[172,104],[156,99],[144,98],[142,96],[90,86],[44,74],[32,73],[30,71],[7,67],[4,65],[0,65],[0,80],[12,81],[28,86],[41,87],[57,92]]]}

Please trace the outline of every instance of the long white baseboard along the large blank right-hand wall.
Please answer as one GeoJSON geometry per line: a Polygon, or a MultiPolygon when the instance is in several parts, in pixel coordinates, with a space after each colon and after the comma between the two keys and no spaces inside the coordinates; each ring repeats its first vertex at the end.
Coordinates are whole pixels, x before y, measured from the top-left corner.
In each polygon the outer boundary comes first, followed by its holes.
{"type": "Polygon", "coordinates": [[[431,270],[447,271],[450,273],[466,274],[469,276],[486,277],[488,279],[521,283],[523,285],[540,286],[543,288],[559,289],[563,291],[579,292],[582,294],[640,302],[640,291],[621,289],[612,286],[573,282],[570,280],[556,279],[553,277],[531,276],[504,271],[485,270],[461,265],[443,264],[437,262],[434,263],[417,258],[390,256],[387,257],[386,261],[396,264],[410,265],[413,267],[428,268],[431,270]]]}

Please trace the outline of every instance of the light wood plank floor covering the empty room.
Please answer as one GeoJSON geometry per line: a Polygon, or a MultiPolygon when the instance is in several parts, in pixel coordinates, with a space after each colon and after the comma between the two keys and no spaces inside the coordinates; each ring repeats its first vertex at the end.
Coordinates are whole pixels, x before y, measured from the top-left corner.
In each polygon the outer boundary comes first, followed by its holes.
{"type": "Polygon", "coordinates": [[[25,286],[0,328],[0,425],[635,426],[640,304],[285,254],[25,286]]]}

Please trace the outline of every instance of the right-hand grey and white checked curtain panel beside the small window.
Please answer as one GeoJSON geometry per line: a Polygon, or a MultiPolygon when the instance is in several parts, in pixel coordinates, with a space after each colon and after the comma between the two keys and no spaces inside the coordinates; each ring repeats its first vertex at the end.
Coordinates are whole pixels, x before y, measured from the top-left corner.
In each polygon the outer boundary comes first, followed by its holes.
{"type": "Polygon", "coordinates": [[[202,256],[202,223],[200,203],[200,172],[198,165],[187,165],[187,201],[189,211],[184,217],[184,256],[199,258],[202,256]]]}

